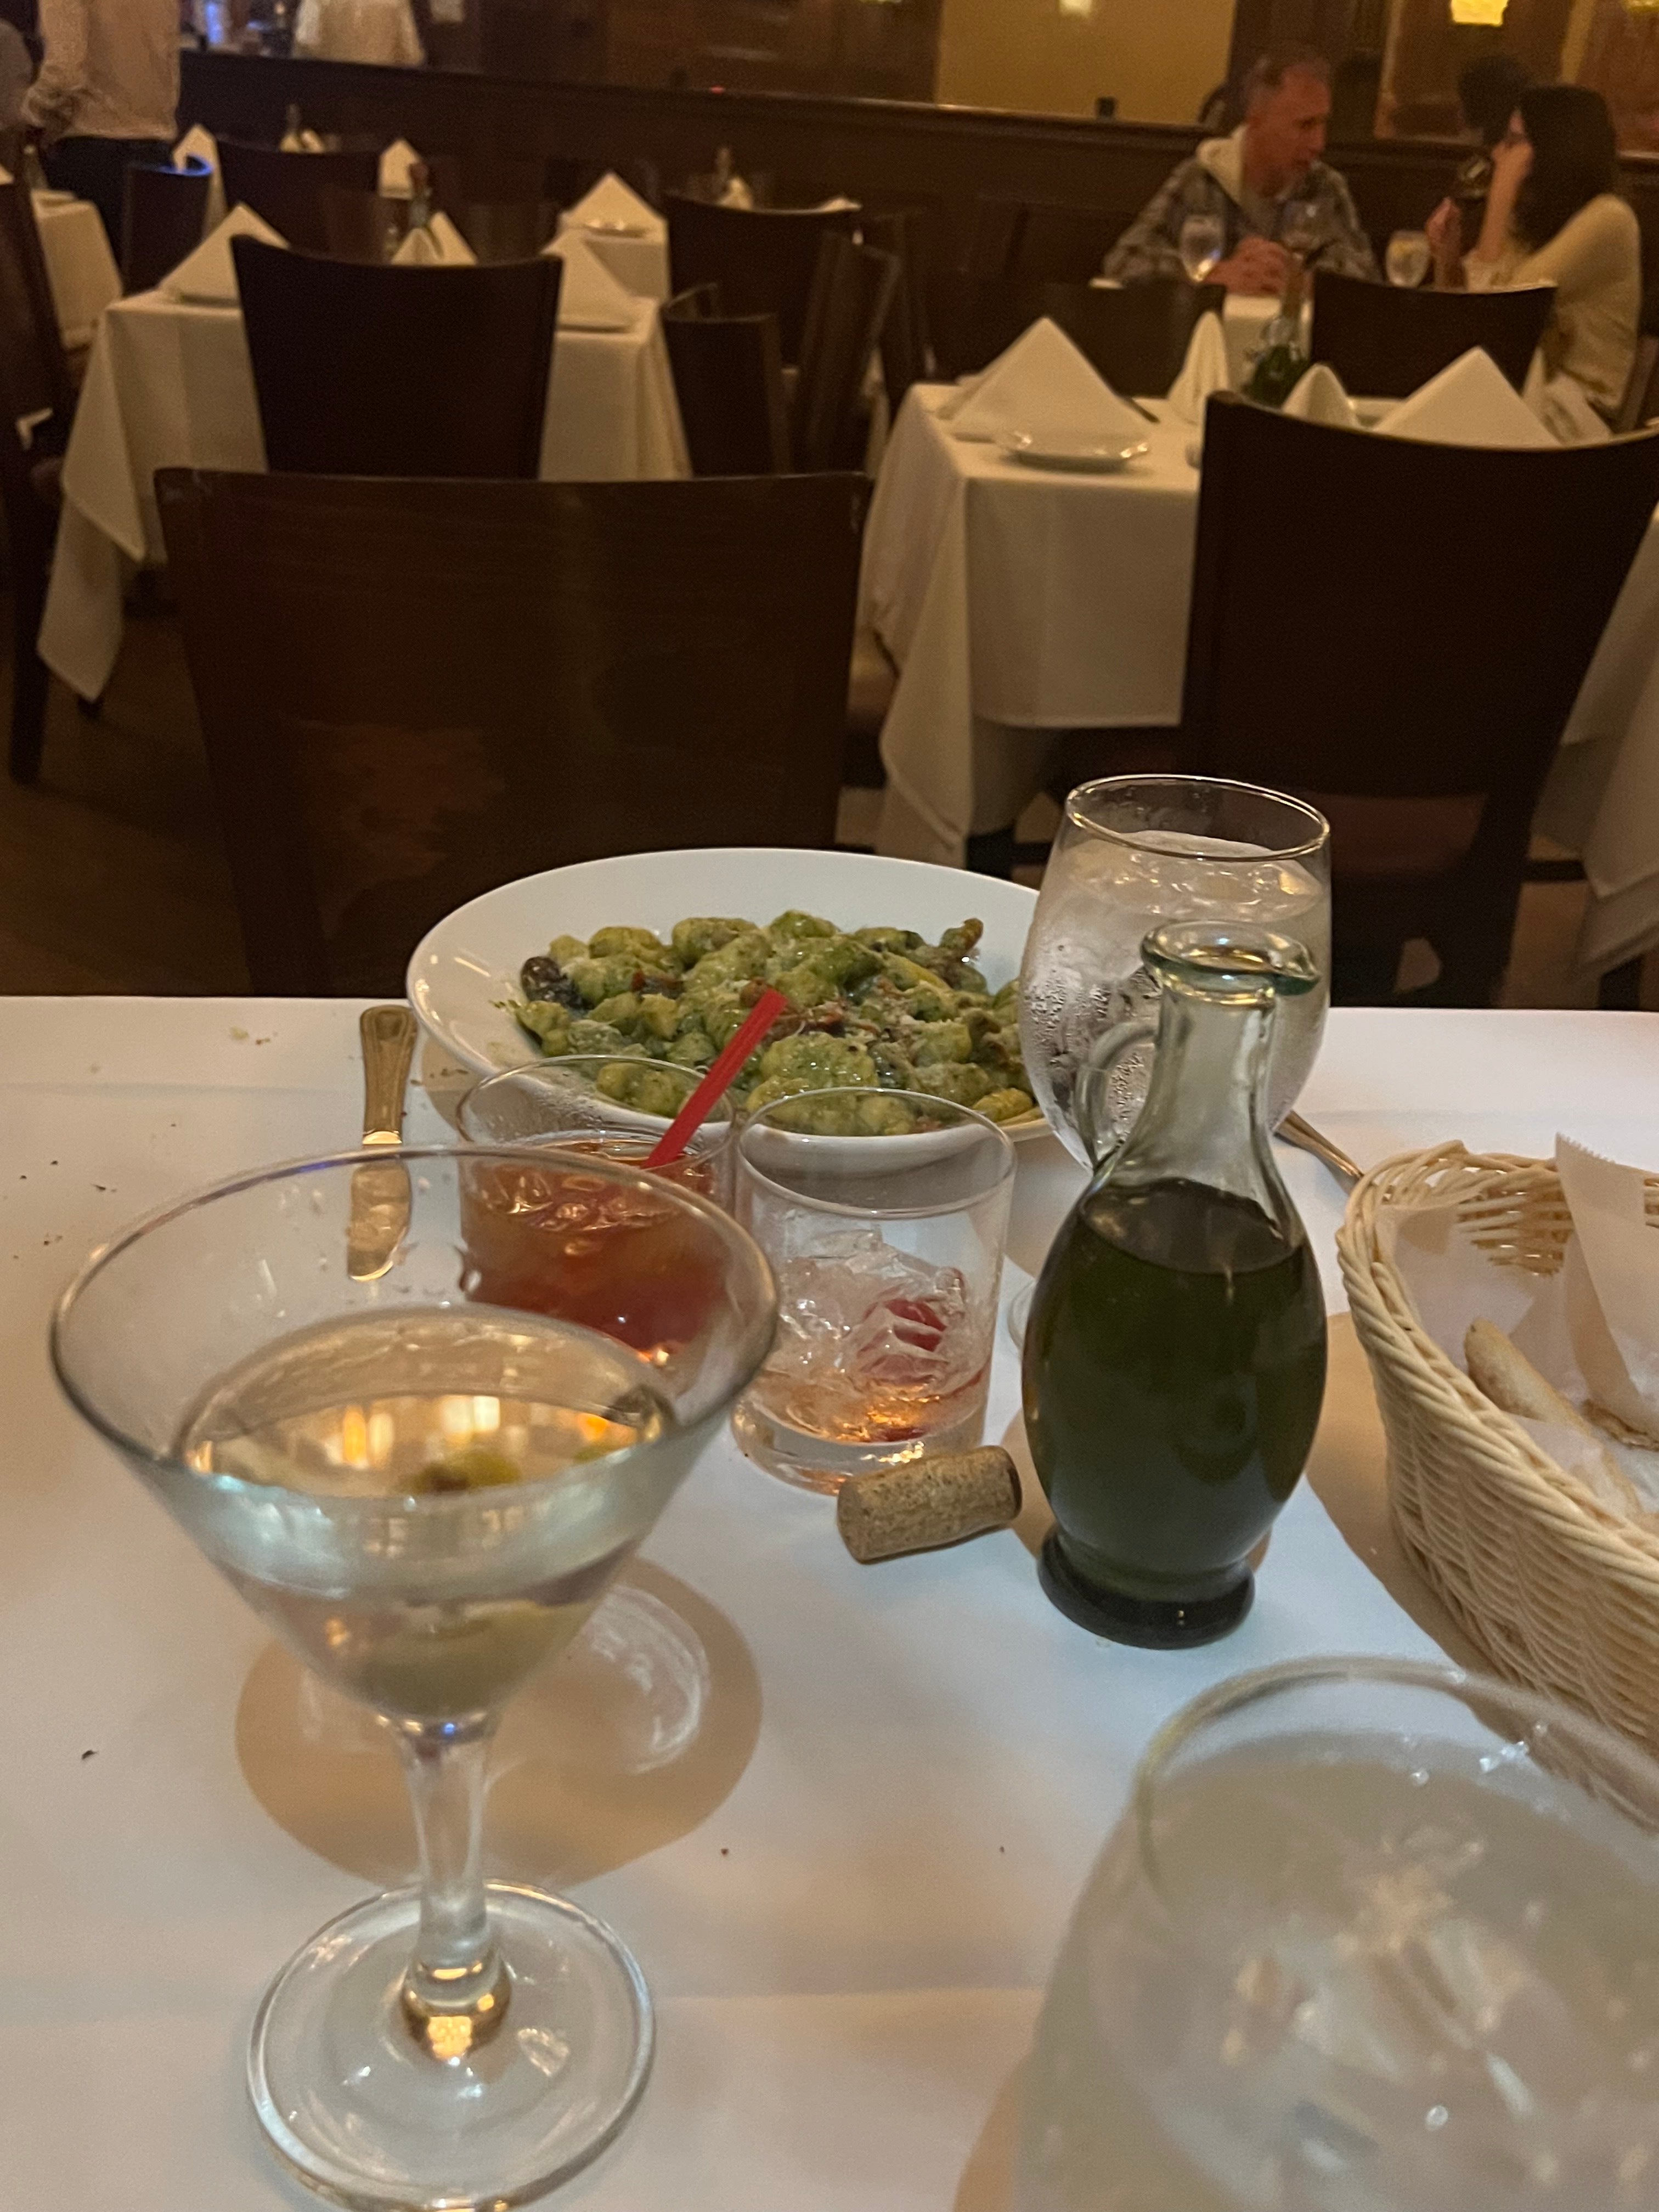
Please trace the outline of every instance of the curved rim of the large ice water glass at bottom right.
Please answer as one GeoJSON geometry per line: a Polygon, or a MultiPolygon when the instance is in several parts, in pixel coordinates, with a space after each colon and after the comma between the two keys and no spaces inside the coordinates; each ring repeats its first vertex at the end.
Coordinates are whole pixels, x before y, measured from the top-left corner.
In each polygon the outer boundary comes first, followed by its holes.
{"type": "MultiPolygon", "coordinates": [[[[1621,1770],[1624,1774],[1646,1783],[1652,1796],[1655,1814],[1659,1816],[1659,1761],[1655,1761],[1637,1743],[1615,1734],[1615,1730],[1606,1728],[1601,1721],[1562,1703],[1562,1699],[1553,1697],[1548,1690],[1528,1690],[1520,1683],[1500,1681],[1495,1674],[1480,1674],[1471,1668],[1453,1666],[1451,1661],[1387,1659],[1358,1652],[1281,1659],[1274,1666],[1252,1668],[1245,1674],[1232,1674],[1212,1690],[1203,1690],[1157,1730],[1135,1767],[1135,1781],[1130,1783],[1130,1798],[1124,1807],[1124,1818],[1135,1823],[1135,1858],[1146,1887],[1157,1900],[1159,1911],[1166,1916],[1166,1933],[1183,1951],[1210,1960],[1203,1944],[1190,1942],[1181,1905],[1177,1898],[1166,1893],[1161,1867],[1152,1847],[1157,1794],[1172,1761],[1212,1723],[1223,1721],[1234,1712],[1243,1712],[1250,1705],[1261,1705],[1290,1690],[1365,1683],[1378,1688],[1440,1692],[1464,1710],[1475,1712],[1475,1717],[1480,1717],[1478,1708],[1482,1703],[1491,1703],[1515,1714],[1517,1723],[1524,1708],[1528,1717],[1544,1723],[1544,1730],[1540,1732],[1555,1730],[1559,1736],[1588,1750],[1601,1767],[1613,1767],[1615,1772],[1621,1770]]],[[[1571,1778],[1566,1785],[1573,1785],[1571,1778]]],[[[1655,1836],[1655,1845],[1659,1849],[1659,1818],[1655,1823],[1644,1823],[1637,1809],[1624,1803],[1617,1803],[1615,1809],[1630,1818],[1632,1825],[1646,1827],[1655,1836]]]]}

